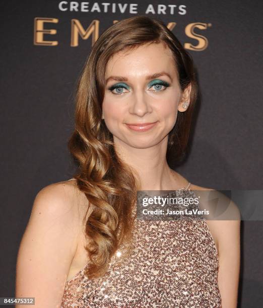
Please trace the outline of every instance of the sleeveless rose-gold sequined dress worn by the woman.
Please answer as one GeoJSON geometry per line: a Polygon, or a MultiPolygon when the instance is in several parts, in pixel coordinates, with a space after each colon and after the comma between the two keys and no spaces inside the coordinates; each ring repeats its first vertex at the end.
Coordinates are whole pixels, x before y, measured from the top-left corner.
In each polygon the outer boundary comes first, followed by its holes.
{"type": "MultiPolygon", "coordinates": [[[[179,192],[195,197],[189,185],[179,192]]],[[[67,281],[61,308],[221,308],[218,253],[205,219],[137,220],[125,252],[121,245],[103,277],[89,280],[84,268],[67,281]]]]}

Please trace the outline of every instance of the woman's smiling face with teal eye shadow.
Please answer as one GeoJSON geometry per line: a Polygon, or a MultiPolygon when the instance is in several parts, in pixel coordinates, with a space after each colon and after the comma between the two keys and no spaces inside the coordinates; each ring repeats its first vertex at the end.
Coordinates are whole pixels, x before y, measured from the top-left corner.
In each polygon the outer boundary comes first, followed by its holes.
{"type": "Polygon", "coordinates": [[[185,110],[181,104],[188,99],[181,101],[170,49],[147,44],[115,54],[108,61],[105,82],[102,118],[115,144],[147,148],[168,140],[177,111],[185,110]]]}

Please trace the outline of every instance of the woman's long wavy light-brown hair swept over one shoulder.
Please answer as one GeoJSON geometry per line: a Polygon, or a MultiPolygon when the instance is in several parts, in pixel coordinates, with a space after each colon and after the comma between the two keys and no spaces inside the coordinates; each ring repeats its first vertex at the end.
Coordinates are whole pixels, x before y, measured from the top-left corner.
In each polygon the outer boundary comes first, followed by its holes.
{"type": "Polygon", "coordinates": [[[88,278],[104,275],[119,246],[131,243],[136,219],[133,207],[140,189],[135,170],[117,155],[113,136],[101,119],[106,66],[117,52],[160,42],[172,51],[181,91],[191,85],[189,106],[178,112],[168,136],[167,163],[171,158],[180,161],[198,88],[191,56],[162,21],[136,16],[112,25],[95,42],[77,83],[75,130],[68,146],[78,164],[74,178],[89,203],[83,219],[89,239],[85,246],[90,260],[85,272],[88,278]]]}

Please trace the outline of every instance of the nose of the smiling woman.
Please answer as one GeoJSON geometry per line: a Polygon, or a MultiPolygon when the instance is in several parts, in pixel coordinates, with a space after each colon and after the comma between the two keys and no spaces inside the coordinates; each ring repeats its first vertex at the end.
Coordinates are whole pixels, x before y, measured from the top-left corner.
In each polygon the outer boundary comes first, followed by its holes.
{"type": "Polygon", "coordinates": [[[143,117],[145,114],[152,111],[152,107],[149,103],[149,99],[147,99],[147,94],[143,91],[138,91],[134,93],[132,99],[132,103],[129,107],[129,113],[137,115],[139,117],[143,117]]]}

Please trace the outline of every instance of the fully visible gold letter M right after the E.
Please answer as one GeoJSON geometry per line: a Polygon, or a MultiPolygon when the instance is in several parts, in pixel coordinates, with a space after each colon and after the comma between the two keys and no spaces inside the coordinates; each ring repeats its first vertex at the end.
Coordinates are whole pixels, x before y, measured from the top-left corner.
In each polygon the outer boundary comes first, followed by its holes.
{"type": "Polygon", "coordinates": [[[78,19],[71,20],[71,46],[79,45],[79,34],[83,40],[87,40],[92,34],[92,46],[99,37],[99,20],[93,20],[87,30],[84,30],[78,19]]]}

